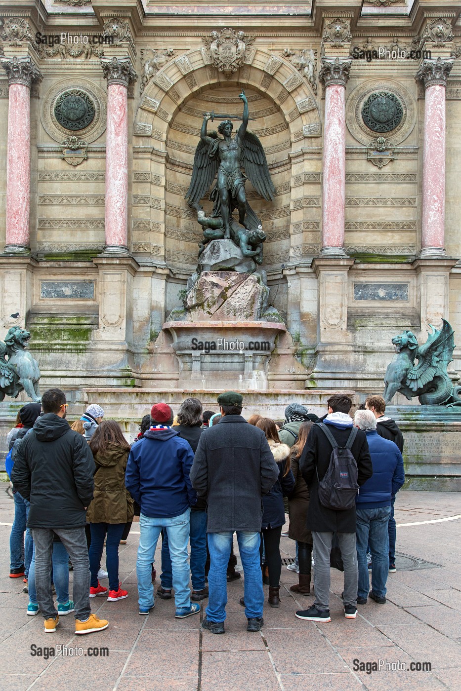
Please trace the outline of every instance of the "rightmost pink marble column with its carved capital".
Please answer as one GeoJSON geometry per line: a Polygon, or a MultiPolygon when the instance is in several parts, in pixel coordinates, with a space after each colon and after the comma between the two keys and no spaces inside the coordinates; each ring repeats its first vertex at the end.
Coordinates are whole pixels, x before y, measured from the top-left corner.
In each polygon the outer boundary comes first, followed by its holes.
{"type": "Polygon", "coordinates": [[[416,75],[425,90],[420,257],[445,254],[445,91],[453,61],[424,60],[416,75]]]}

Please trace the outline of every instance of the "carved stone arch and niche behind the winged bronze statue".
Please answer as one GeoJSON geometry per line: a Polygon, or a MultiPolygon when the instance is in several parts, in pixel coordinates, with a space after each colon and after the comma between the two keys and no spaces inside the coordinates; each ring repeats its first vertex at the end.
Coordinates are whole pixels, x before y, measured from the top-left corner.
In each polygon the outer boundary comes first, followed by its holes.
{"type": "MultiPolygon", "coordinates": [[[[277,191],[275,202],[265,202],[247,184],[248,200],[262,218],[269,236],[264,265],[286,262],[292,254],[293,241],[302,242],[302,234],[293,236],[292,230],[298,218],[305,215],[304,188],[296,188],[293,199],[293,179],[299,172],[302,174],[302,151],[306,146],[316,146],[319,141],[306,137],[320,136],[320,118],[309,84],[282,59],[274,73],[268,71],[272,58],[265,50],[255,50],[251,64],[244,64],[235,77],[228,80],[206,63],[201,50],[191,50],[170,61],[147,84],[136,112],[134,143],[135,148],[137,144],[144,152],[152,147],[150,161],[143,153],[143,166],[150,166],[150,195],[134,194],[137,200],[145,202],[143,209],[133,209],[135,255],[150,250],[151,254],[164,256],[174,269],[194,270],[201,233],[197,215],[183,197],[192,172],[202,111],[241,113],[237,94],[242,87],[253,99],[250,117],[256,115],[257,120],[250,123],[250,129],[262,140],[277,191]],[[235,97],[225,96],[232,91],[235,97]],[[217,99],[214,108],[208,106],[206,100],[212,97],[217,99]],[[293,151],[297,152],[294,158],[293,151]],[[301,195],[300,200],[296,199],[297,195],[301,195]],[[145,218],[147,203],[149,222],[145,218]],[[148,226],[150,243],[145,239],[148,226]],[[136,233],[136,227],[143,232],[136,233]]],[[[209,129],[213,129],[211,123],[209,129]]],[[[146,182],[147,173],[138,173],[138,179],[146,182]]],[[[143,189],[147,192],[145,184],[143,189]]],[[[312,189],[309,193],[313,193],[312,189]]],[[[206,208],[208,203],[204,202],[206,208]]]]}

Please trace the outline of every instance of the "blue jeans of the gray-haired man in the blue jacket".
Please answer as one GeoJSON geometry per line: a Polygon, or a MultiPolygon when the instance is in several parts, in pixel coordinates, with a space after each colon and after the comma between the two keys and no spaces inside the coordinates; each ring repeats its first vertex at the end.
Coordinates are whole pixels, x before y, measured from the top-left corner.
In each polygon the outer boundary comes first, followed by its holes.
{"type": "MultiPolygon", "coordinates": [[[[367,565],[367,543],[372,556],[372,591],[379,598],[386,597],[389,571],[390,507],[357,509],[357,561],[359,562],[359,598],[368,597],[370,576],[367,565]]],[[[314,557],[315,558],[315,557],[314,557]]]]}

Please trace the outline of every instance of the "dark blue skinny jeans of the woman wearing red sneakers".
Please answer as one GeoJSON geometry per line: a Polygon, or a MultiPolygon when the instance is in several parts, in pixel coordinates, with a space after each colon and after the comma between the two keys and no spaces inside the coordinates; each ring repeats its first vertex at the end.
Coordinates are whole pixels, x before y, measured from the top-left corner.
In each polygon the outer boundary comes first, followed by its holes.
{"type": "Polygon", "coordinates": [[[98,571],[101,563],[104,538],[106,538],[106,569],[109,576],[109,590],[118,590],[118,545],[122,539],[125,523],[90,523],[91,545],[88,556],[90,560],[91,587],[98,587],[98,571]]]}

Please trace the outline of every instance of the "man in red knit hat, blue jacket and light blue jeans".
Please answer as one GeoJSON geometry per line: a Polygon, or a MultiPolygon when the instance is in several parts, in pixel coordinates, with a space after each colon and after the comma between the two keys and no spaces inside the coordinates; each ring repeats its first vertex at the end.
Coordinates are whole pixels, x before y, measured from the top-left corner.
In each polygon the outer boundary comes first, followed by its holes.
{"type": "Polygon", "coordinates": [[[154,607],[152,563],[163,528],[172,561],[174,616],[184,618],[200,612],[200,605],[190,601],[188,564],[190,507],[197,502],[189,477],[194,454],[186,439],[181,439],[172,428],[170,406],[152,406],[150,417],[150,429],[132,447],[125,473],[125,486],[141,505],[136,562],[139,614],[149,614],[154,607]]]}

